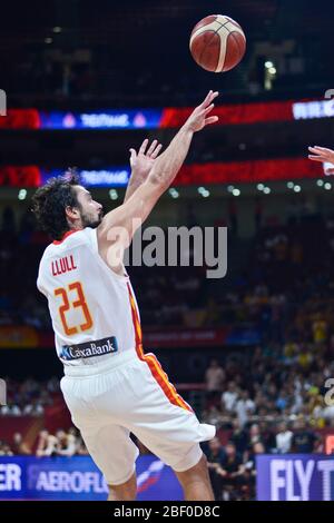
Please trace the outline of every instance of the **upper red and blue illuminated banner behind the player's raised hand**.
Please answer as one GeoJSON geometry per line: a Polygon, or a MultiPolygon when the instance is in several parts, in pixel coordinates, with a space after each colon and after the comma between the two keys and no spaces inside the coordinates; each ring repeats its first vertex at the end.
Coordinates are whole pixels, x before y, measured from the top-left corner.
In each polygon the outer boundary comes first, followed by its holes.
{"type": "MultiPolygon", "coordinates": [[[[39,111],[9,109],[0,119],[0,129],[159,129],[184,125],[194,107],[155,109],[99,109],[97,111],[39,111]]],[[[254,125],[268,121],[333,118],[334,99],[304,99],[224,103],[215,108],[216,126],[254,125]]]]}

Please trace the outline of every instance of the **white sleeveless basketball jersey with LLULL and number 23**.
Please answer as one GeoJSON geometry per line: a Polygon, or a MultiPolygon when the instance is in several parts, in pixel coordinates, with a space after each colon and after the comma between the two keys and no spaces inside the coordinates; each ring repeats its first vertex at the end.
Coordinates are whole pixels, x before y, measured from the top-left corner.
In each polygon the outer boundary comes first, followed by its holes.
{"type": "Polygon", "coordinates": [[[68,231],[49,245],[37,286],[48,298],[57,354],[65,365],[94,365],[136,348],[130,280],[100,257],[97,229],[68,231]]]}

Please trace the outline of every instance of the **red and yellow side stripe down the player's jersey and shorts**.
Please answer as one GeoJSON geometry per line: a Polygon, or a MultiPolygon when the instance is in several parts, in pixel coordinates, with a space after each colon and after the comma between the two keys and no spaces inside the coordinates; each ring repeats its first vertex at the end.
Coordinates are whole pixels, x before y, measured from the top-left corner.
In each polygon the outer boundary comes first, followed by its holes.
{"type": "Polygon", "coordinates": [[[136,303],[135,298],[131,293],[131,287],[129,284],[128,285],[128,290],[129,290],[129,297],[130,297],[130,307],[131,307],[131,314],[132,314],[132,323],[134,323],[134,328],[135,328],[135,336],[136,336],[136,352],[141,359],[141,362],[145,362],[155,378],[155,381],[158,383],[160,388],[163,389],[165,396],[168,398],[168,401],[178,407],[185,408],[186,411],[194,412],[190,405],[188,405],[179,394],[177,394],[175,387],[169,383],[167,374],[163,371],[161,365],[159,364],[158,359],[154,354],[144,354],[143,351],[143,336],[141,336],[141,327],[140,327],[140,322],[138,317],[138,312],[136,308],[136,303]]]}

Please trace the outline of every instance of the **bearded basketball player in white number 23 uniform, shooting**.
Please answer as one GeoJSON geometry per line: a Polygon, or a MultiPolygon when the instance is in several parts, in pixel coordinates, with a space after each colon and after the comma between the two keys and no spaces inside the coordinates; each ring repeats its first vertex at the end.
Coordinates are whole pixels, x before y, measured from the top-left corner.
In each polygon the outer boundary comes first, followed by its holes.
{"type": "MultiPolygon", "coordinates": [[[[138,448],[130,433],[174,468],[186,500],[214,499],[199,442],[212,440],[215,427],[199,423],[156,357],[144,354],[122,255],[175,179],[194,134],[217,121],[209,116],[217,96],[208,92],[165,152],[151,159],[146,180],[132,180],[126,201],[105,217],[73,174],[51,179],[33,196],[32,210],[53,239],[40,262],[37,286],[48,299],[63,363],[61,391],[106,477],[109,500],[136,499],[138,448]]],[[[156,144],[148,152],[157,155],[156,144]]],[[[132,164],[137,159],[131,150],[132,164]]]]}

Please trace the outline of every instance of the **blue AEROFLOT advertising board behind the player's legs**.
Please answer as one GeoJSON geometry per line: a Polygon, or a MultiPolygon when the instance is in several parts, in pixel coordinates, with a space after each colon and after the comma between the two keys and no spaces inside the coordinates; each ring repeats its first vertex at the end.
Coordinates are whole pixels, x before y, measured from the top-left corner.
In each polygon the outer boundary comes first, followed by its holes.
{"type": "MultiPolygon", "coordinates": [[[[183,500],[170,467],[155,456],[137,460],[139,501],[183,500]]],[[[104,501],[108,487],[89,456],[0,456],[1,500],[104,501]]]]}

